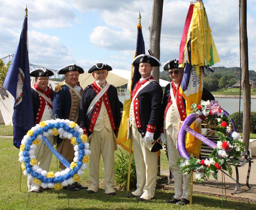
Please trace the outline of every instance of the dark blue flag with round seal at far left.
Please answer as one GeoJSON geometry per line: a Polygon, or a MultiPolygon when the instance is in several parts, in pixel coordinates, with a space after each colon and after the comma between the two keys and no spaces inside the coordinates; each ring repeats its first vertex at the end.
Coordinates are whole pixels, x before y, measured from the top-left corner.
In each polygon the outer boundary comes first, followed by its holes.
{"type": "Polygon", "coordinates": [[[27,17],[25,17],[20,42],[4,80],[4,87],[13,95],[15,100],[12,122],[13,144],[17,148],[20,148],[24,135],[35,124],[29,75],[27,21],[27,17]]]}

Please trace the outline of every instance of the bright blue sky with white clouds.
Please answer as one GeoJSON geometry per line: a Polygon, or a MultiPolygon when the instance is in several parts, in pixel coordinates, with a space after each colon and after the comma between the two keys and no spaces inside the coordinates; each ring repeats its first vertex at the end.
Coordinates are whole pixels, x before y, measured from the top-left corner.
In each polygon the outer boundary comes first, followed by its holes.
{"type": "MultiPolygon", "coordinates": [[[[13,54],[28,7],[29,61],[52,69],[104,62],[130,70],[140,11],[145,49],[152,0],[0,0],[0,58],[13,54]]],[[[239,66],[238,0],[204,0],[220,63],[239,66]]],[[[164,0],[160,61],[178,57],[189,0],[164,0]]],[[[249,70],[256,70],[256,6],[247,1],[249,70]]]]}

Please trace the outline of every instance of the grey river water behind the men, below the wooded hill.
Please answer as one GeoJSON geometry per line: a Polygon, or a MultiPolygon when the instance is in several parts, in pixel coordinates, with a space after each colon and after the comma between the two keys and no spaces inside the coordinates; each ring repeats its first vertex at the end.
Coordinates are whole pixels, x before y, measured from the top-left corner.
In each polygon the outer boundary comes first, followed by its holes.
{"type": "MultiPolygon", "coordinates": [[[[125,96],[118,96],[119,100],[124,104],[125,96]]],[[[221,105],[221,107],[226,110],[229,114],[232,114],[239,109],[239,99],[230,98],[215,98],[221,105]]],[[[240,110],[243,110],[243,99],[241,99],[240,110]]],[[[256,111],[256,99],[251,99],[251,111],[256,111]]]]}

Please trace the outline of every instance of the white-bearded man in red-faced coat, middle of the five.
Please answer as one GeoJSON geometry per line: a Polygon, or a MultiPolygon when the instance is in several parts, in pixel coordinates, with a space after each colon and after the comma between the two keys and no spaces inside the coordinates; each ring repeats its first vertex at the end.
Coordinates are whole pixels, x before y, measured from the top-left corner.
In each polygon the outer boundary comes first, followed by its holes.
{"type": "Polygon", "coordinates": [[[99,189],[99,163],[102,154],[105,169],[105,193],[116,195],[114,189],[114,152],[117,149],[117,134],[121,122],[120,102],[117,89],[107,83],[108,72],[112,68],[103,63],[93,65],[95,81],[87,86],[80,103],[80,127],[88,135],[90,143],[90,187],[88,193],[99,189]]]}

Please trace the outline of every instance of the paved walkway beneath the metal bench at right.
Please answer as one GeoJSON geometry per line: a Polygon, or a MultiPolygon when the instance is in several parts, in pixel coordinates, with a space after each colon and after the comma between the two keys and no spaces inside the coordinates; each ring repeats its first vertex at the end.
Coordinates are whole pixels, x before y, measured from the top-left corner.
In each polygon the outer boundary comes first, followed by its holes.
{"type": "MultiPolygon", "coordinates": [[[[239,199],[245,199],[245,200],[252,200],[253,202],[256,202],[256,157],[252,158],[251,166],[251,173],[249,178],[249,184],[251,185],[251,188],[248,189],[246,186],[246,177],[247,177],[247,170],[248,170],[248,163],[243,166],[239,167],[239,182],[241,184],[245,184],[244,186],[240,187],[236,194],[232,195],[231,193],[235,189],[235,181],[229,178],[227,175],[225,175],[225,183],[226,183],[226,194],[229,197],[233,198],[239,198],[239,199]]],[[[235,173],[235,167],[232,167],[233,174],[232,177],[236,177],[235,173]]],[[[169,176],[169,169],[162,170],[161,175],[169,176]]],[[[195,177],[193,177],[193,180],[195,181],[195,177]]],[[[172,181],[169,185],[161,185],[164,189],[174,189],[174,183],[172,181]]],[[[214,194],[214,195],[222,195],[222,189],[223,189],[223,195],[225,196],[225,188],[224,188],[224,177],[223,177],[223,183],[222,183],[222,176],[221,172],[218,172],[218,181],[214,179],[212,176],[210,176],[208,181],[204,181],[201,183],[195,183],[193,185],[193,192],[200,192],[200,193],[208,193],[208,194],[214,194]]]]}

